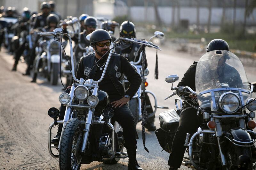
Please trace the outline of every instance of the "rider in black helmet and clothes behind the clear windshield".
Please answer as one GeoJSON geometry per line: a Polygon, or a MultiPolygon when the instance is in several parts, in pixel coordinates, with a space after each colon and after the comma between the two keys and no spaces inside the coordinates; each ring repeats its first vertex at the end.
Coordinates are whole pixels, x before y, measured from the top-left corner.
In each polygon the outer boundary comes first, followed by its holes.
{"type": "MultiPolygon", "coordinates": [[[[206,49],[207,52],[214,51],[214,50],[227,50],[229,51],[228,43],[221,39],[215,39],[212,40],[206,49]]],[[[179,86],[189,86],[192,90],[196,90],[196,65],[197,62],[194,62],[193,65],[191,65],[186,73],[184,74],[184,77],[181,79],[179,86]]],[[[196,96],[190,96],[187,101],[194,105],[199,106],[196,96]]],[[[172,142],[172,151],[169,157],[168,165],[170,166],[169,170],[177,170],[180,168],[183,155],[185,152],[186,147],[183,145],[186,134],[189,133],[190,135],[193,135],[197,128],[200,126],[200,122],[198,121],[198,117],[196,115],[197,110],[191,106],[189,106],[187,103],[183,102],[183,107],[181,110],[180,115],[180,124],[179,128],[175,133],[173,142],[172,142]]]]}

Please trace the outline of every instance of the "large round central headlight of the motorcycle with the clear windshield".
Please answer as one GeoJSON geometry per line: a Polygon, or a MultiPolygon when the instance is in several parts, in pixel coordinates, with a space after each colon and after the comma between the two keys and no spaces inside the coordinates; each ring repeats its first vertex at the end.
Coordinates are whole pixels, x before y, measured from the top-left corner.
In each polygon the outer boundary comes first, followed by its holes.
{"type": "Polygon", "coordinates": [[[219,106],[225,113],[235,113],[240,107],[239,97],[233,92],[224,93],[219,98],[219,106]]]}

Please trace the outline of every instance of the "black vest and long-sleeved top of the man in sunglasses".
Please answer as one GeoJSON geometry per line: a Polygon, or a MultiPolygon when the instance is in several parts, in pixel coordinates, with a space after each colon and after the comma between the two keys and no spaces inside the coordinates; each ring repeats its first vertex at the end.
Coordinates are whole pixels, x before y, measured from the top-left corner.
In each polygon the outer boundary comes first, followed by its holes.
{"type": "MultiPolygon", "coordinates": [[[[78,69],[76,72],[76,78],[86,78],[92,79],[95,75],[96,65],[94,62],[95,53],[86,55],[78,64],[78,69]]],[[[111,81],[119,94],[124,97],[124,95],[129,95],[130,98],[134,96],[141,84],[141,77],[137,71],[132,67],[129,61],[124,58],[122,55],[113,53],[112,57],[108,64],[108,69],[106,74],[109,75],[111,81]],[[130,82],[130,87],[125,92],[124,89],[124,75],[127,77],[127,80],[130,82]]]]}

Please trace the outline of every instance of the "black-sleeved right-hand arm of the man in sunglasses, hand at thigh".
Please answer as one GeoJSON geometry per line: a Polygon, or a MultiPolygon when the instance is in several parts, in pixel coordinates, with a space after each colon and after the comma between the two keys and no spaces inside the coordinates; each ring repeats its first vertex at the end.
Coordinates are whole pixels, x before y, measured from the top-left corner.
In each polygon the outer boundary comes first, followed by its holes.
{"type": "Polygon", "coordinates": [[[127,77],[127,80],[130,82],[130,86],[125,94],[129,95],[130,99],[132,99],[134,94],[140,88],[141,77],[124,56],[120,55],[120,59],[122,64],[122,72],[127,77]]]}

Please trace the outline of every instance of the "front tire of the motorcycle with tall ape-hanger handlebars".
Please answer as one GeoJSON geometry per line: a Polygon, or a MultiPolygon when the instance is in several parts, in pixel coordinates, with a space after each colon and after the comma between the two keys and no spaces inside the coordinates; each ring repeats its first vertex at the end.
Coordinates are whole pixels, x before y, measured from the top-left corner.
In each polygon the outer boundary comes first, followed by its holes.
{"type": "Polygon", "coordinates": [[[60,170],[79,170],[81,166],[82,125],[77,118],[68,120],[60,139],[60,170]]]}

